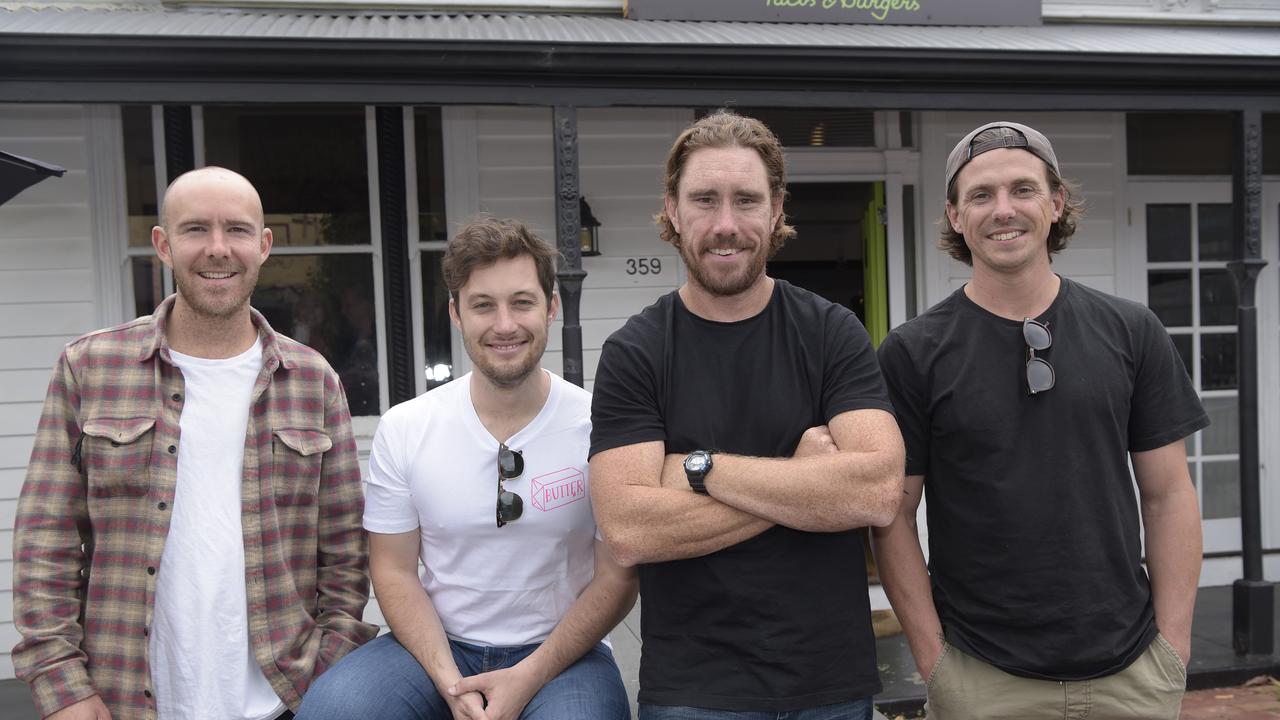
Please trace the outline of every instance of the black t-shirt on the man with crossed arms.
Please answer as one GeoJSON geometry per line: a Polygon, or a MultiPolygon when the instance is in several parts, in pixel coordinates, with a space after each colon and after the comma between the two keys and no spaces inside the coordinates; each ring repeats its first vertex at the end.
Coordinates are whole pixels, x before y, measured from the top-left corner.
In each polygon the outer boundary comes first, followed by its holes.
{"type": "MultiPolygon", "coordinates": [[[[591,454],[790,457],[805,429],[868,407],[891,409],[847,309],[776,281],[763,313],[714,323],[672,292],[604,343],[591,454]]],[[[639,570],[640,702],[780,712],[879,692],[859,533],[774,527],[639,570]]]]}

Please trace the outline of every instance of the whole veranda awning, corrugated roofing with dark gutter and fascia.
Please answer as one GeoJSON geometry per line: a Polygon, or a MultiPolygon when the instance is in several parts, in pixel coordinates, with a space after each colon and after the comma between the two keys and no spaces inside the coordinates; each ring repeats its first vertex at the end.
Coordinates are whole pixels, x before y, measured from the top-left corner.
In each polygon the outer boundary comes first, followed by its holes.
{"type": "Polygon", "coordinates": [[[1280,27],[0,9],[0,101],[1280,110],[1280,27]]]}

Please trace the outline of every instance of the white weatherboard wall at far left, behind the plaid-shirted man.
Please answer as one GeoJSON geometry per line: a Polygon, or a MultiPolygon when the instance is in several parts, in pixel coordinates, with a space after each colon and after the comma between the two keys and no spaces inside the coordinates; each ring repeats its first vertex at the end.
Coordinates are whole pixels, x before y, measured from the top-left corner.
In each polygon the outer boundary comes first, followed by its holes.
{"type": "Polygon", "coordinates": [[[0,105],[0,150],[67,168],[0,206],[0,679],[13,678],[13,520],[58,355],[97,324],[88,119],[0,105]]]}

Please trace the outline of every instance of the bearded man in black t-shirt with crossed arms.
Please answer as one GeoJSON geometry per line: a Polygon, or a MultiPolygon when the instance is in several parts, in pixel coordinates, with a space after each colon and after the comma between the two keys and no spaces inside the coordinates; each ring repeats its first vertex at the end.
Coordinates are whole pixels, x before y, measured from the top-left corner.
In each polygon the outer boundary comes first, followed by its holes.
{"type": "Polygon", "coordinates": [[[641,720],[864,720],[881,687],[856,528],[892,520],[902,443],[858,318],[764,273],[785,195],[759,122],[686,129],[658,222],[689,279],[600,357],[591,496],[640,571],[641,720]]]}

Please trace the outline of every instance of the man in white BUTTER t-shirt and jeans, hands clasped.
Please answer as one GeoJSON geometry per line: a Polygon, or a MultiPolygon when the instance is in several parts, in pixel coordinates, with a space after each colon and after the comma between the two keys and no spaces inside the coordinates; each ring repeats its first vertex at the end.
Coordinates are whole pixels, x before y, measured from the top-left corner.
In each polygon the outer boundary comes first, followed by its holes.
{"type": "Polygon", "coordinates": [[[630,717],[604,639],[637,582],[596,534],[590,395],[539,366],[556,255],[511,220],[449,241],[449,315],[475,370],[383,415],[365,529],[392,633],[316,683],[300,719],[630,717]]]}

